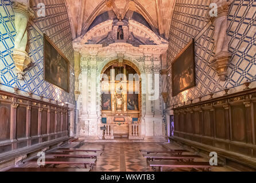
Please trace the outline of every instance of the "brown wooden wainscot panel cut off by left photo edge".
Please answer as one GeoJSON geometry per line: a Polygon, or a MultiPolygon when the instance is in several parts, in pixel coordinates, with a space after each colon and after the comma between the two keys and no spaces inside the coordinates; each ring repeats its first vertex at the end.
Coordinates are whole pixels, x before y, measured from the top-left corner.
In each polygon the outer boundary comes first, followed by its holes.
{"type": "Polygon", "coordinates": [[[0,103],[0,141],[10,139],[10,104],[0,103]]]}

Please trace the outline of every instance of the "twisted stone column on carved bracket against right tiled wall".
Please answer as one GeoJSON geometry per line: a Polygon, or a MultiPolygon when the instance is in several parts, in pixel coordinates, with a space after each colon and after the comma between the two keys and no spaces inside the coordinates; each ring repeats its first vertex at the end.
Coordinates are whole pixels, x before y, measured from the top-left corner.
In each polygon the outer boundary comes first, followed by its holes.
{"type": "Polygon", "coordinates": [[[214,23],[214,44],[215,55],[212,63],[214,64],[220,81],[226,81],[227,67],[230,60],[230,53],[228,52],[228,37],[227,37],[227,14],[230,1],[227,0],[212,0],[218,7],[217,17],[212,17],[211,21],[214,23]]]}

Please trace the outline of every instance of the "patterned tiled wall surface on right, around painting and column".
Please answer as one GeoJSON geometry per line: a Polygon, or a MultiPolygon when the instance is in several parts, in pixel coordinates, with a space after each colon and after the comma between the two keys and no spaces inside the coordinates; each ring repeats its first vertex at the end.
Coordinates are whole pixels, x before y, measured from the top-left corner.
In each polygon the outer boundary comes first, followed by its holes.
{"type": "Polygon", "coordinates": [[[220,81],[211,65],[214,55],[214,26],[208,17],[210,0],[177,0],[170,25],[168,66],[195,38],[196,87],[172,97],[172,78],[168,78],[168,106],[242,85],[256,79],[256,1],[234,1],[228,13],[229,51],[232,54],[226,82],[220,81]]]}

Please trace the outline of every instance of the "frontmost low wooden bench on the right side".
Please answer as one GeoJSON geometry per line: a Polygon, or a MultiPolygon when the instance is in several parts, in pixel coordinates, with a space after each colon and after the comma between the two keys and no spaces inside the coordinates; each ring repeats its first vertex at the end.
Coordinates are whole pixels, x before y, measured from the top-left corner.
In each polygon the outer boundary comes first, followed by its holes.
{"type": "Polygon", "coordinates": [[[210,171],[212,167],[209,162],[181,162],[181,161],[150,161],[149,166],[151,166],[154,170],[156,167],[162,172],[162,168],[202,168],[203,171],[210,171]]]}

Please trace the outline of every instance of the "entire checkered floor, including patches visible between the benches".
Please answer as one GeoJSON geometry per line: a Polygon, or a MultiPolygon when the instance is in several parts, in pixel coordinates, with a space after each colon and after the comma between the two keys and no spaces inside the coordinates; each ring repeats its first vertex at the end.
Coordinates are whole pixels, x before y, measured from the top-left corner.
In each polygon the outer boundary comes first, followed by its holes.
{"type": "MultiPolygon", "coordinates": [[[[100,148],[103,149],[102,155],[98,156],[96,165],[91,172],[152,172],[147,165],[145,158],[139,149],[182,149],[176,144],[170,143],[152,143],[152,142],[86,142],[81,148],[100,148]]],[[[185,153],[186,154],[186,153],[185,153]]],[[[187,153],[191,154],[191,153],[187,153]]],[[[195,161],[208,161],[206,158],[200,158],[195,161]]],[[[34,165],[25,165],[34,167],[34,165]]],[[[56,168],[83,168],[83,166],[58,165],[56,168]]],[[[191,169],[168,169],[165,172],[183,172],[191,169]]],[[[235,171],[228,166],[212,168],[213,172],[235,171]]]]}

